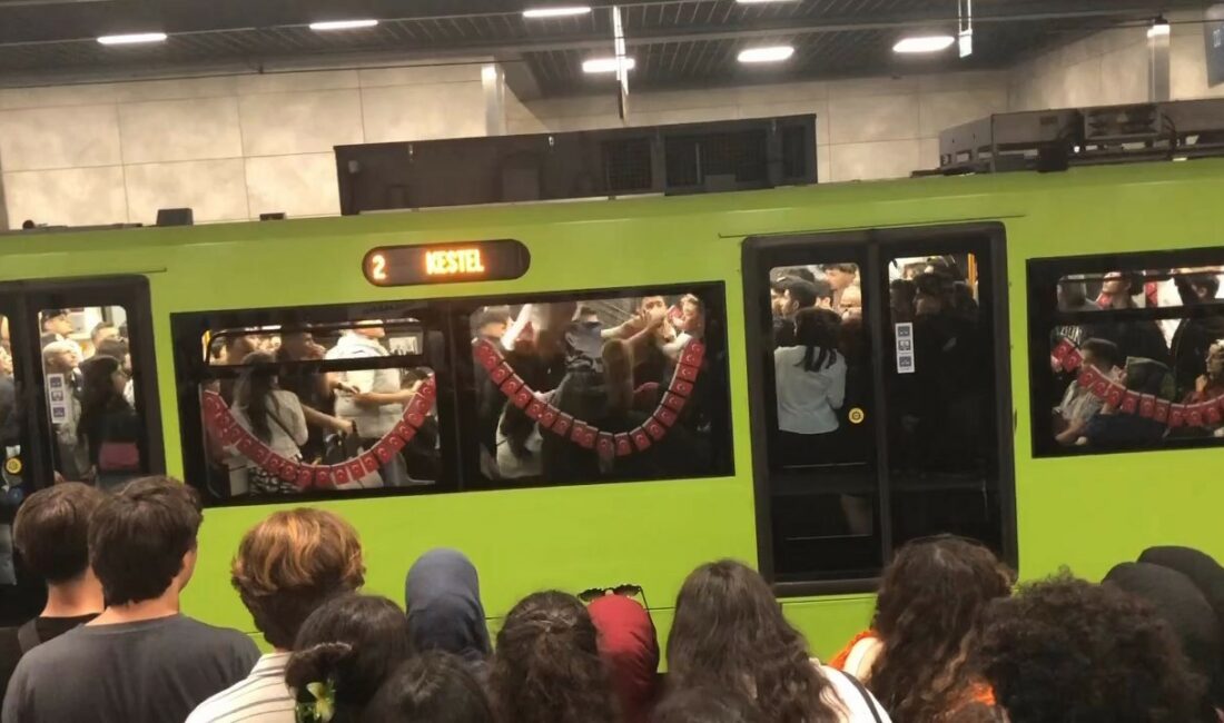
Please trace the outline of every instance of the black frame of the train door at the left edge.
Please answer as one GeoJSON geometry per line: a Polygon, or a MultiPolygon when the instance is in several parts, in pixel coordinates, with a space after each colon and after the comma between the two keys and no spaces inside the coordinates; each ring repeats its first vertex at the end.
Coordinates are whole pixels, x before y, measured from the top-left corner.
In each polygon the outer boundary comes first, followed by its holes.
{"type": "Polygon", "coordinates": [[[162,402],[157,354],[153,343],[153,307],[146,276],[94,276],[0,283],[0,308],[12,311],[9,332],[13,349],[15,379],[21,382],[18,409],[22,425],[22,464],[27,470],[27,495],[54,480],[54,447],[47,394],[43,389],[42,324],[39,312],[49,308],[121,306],[127,312],[129,344],[136,384],[136,406],[144,426],[144,454],[152,475],[165,473],[162,438],[162,402]],[[38,380],[32,384],[31,380],[38,380]],[[29,454],[31,450],[34,454],[29,454]]]}

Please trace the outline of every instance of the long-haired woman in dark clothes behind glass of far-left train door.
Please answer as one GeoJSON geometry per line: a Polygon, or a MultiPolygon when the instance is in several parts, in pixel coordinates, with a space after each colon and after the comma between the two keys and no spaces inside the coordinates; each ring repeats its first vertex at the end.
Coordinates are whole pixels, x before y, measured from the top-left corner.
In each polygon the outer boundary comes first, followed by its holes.
{"type": "Polygon", "coordinates": [[[81,365],[81,421],[77,438],[88,448],[94,483],[114,489],[146,473],[141,417],[124,396],[130,376],[115,357],[98,355],[81,365]]]}

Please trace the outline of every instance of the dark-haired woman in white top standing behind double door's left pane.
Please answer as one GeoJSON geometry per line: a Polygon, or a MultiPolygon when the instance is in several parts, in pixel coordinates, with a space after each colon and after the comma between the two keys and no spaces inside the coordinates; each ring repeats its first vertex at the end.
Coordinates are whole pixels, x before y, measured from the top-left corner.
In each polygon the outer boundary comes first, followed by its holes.
{"type": "Polygon", "coordinates": [[[796,346],[774,350],[777,428],[782,459],[794,466],[819,462],[829,436],[841,425],[846,401],[846,357],[838,352],[841,317],[827,308],[794,316],[796,346]]]}

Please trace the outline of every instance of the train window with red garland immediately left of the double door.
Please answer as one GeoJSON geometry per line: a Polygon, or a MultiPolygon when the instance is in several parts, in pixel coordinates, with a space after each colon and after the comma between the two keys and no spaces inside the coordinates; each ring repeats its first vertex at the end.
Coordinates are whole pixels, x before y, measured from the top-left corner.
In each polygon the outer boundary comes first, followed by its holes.
{"type": "Polygon", "coordinates": [[[475,308],[485,482],[731,473],[723,303],[696,285],[475,308]]]}

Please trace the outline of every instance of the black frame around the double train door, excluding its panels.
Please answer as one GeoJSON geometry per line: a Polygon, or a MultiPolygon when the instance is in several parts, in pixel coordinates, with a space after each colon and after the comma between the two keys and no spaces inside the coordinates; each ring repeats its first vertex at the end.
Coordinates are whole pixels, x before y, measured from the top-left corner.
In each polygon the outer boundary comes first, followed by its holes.
{"type": "MultiPolygon", "coordinates": [[[[744,287],[744,336],[748,363],[748,407],[753,448],[753,491],[756,517],[758,569],[769,580],[780,597],[798,597],[812,595],[845,595],[874,592],[879,579],[821,580],[803,582],[777,582],[774,569],[772,552],[772,514],[770,471],[767,456],[769,412],[765,399],[764,382],[766,362],[760,350],[772,349],[772,325],[767,305],[769,278],[771,270],[763,263],[767,252],[796,248],[800,245],[819,245],[821,250],[859,246],[865,251],[869,273],[860,273],[863,289],[863,313],[869,321],[871,344],[871,385],[875,402],[876,439],[887,439],[887,399],[884,394],[884,313],[881,300],[887,297],[884,287],[881,263],[894,256],[903,256],[905,250],[942,243],[968,246],[984,243],[989,253],[989,280],[991,284],[991,322],[994,324],[995,355],[995,409],[998,425],[999,455],[999,494],[1002,516],[1004,559],[1013,568],[1018,566],[1018,544],[1016,531],[1016,472],[1015,472],[1015,410],[1011,391],[1011,327],[1010,327],[1010,285],[1007,281],[1006,232],[1001,223],[968,223],[949,225],[928,225],[908,228],[867,229],[830,232],[794,232],[785,235],[749,236],[742,247],[742,269],[744,287]],[[876,311],[876,308],[879,311],[876,311]],[[874,318],[873,318],[874,314],[874,318]]],[[[887,445],[876,444],[876,471],[879,480],[881,546],[884,563],[887,564],[892,551],[892,530],[890,511],[887,445]]]]}

